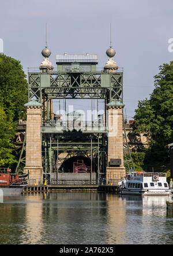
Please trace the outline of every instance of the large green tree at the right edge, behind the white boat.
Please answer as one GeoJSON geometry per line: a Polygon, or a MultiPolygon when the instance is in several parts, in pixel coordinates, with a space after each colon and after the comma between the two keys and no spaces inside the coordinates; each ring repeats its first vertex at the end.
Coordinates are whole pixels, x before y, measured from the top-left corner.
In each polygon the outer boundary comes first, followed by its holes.
{"type": "Polygon", "coordinates": [[[145,164],[167,164],[168,144],[173,141],[173,61],[159,67],[154,76],[155,89],[149,100],[139,101],[134,115],[136,133],[143,133],[149,140],[145,164]]]}

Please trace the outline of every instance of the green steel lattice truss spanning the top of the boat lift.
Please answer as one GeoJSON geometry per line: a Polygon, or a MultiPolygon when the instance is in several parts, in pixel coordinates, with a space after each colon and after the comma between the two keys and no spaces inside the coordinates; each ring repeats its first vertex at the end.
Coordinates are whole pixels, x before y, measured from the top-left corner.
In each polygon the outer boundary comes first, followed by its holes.
{"type": "Polygon", "coordinates": [[[103,98],[122,102],[123,72],[53,72],[28,73],[28,100],[34,96],[41,103],[42,93],[47,98],[103,98]]]}

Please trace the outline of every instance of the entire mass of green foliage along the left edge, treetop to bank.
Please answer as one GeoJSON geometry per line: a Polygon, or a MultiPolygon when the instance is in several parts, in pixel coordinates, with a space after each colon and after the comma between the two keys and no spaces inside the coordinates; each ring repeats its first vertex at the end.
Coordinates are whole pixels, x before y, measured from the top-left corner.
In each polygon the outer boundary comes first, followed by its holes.
{"type": "Polygon", "coordinates": [[[25,116],[27,80],[20,61],[0,54],[0,166],[13,167],[18,154],[14,138],[17,122],[25,116]],[[23,114],[21,113],[23,112],[23,114]]]}

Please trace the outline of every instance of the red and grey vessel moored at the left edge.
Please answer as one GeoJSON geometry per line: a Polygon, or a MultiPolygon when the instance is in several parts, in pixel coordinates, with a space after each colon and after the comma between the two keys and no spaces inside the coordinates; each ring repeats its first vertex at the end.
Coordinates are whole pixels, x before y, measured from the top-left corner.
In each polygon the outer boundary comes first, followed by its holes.
{"type": "Polygon", "coordinates": [[[19,178],[19,174],[3,172],[0,173],[0,189],[3,195],[20,195],[27,186],[24,177],[19,178]]]}

